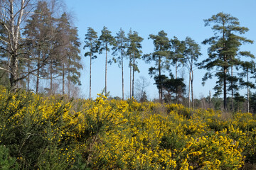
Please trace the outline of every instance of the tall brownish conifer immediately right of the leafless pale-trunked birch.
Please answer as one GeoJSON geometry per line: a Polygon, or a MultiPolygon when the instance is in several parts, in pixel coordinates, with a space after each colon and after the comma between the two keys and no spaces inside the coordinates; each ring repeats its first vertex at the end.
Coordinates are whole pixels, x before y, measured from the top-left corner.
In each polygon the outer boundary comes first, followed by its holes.
{"type": "MultiPolygon", "coordinates": [[[[52,34],[52,22],[50,10],[46,1],[39,1],[34,14],[26,21],[23,35],[26,36],[26,48],[29,51],[27,56],[27,72],[36,71],[36,93],[39,91],[39,81],[41,77],[46,78],[46,64],[50,57],[49,40],[54,38],[52,34]]],[[[28,89],[30,77],[28,75],[28,89]]]]}

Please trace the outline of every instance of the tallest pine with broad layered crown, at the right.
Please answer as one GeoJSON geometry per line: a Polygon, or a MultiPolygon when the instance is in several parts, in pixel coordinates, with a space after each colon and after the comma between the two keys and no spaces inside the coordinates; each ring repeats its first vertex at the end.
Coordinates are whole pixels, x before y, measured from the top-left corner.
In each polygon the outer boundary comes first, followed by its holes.
{"type": "Polygon", "coordinates": [[[208,48],[209,57],[201,62],[201,68],[208,70],[205,77],[203,77],[203,82],[212,77],[210,70],[216,69],[215,77],[218,78],[218,81],[217,86],[215,86],[215,90],[218,94],[223,92],[223,106],[226,110],[227,74],[228,69],[231,67],[230,61],[235,58],[235,54],[237,53],[237,50],[228,45],[228,37],[230,33],[233,34],[233,43],[236,43],[237,47],[239,47],[242,42],[252,43],[252,41],[239,35],[235,35],[235,33],[240,35],[246,33],[248,28],[241,27],[238,18],[230,16],[230,14],[218,13],[205,20],[205,26],[210,26],[211,24],[213,24],[212,29],[215,32],[215,35],[203,41],[203,44],[210,45],[208,48]]]}

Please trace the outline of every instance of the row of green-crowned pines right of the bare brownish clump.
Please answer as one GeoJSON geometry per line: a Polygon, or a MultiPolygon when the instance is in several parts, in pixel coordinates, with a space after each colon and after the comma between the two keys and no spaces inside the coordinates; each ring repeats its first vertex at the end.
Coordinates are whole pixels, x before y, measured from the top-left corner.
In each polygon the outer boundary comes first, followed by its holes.
{"type": "MultiPolygon", "coordinates": [[[[208,57],[202,62],[198,62],[198,57],[202,55],[201,47],[190,37],[185,40],[178,40],[175,36],[169,39],[167,33],[161,30],[156,35],[149,35],[149,39],[153,40],[154,51],[142,55],[140,49],[142,48],[143,38],[140,38],[137,32],[132,33],[132,30],[130,30],[126,37],[124,30],[120,29],[119,33],[112,37],[111,32],[106,27],[103,28],[100,38],[97,38],[95,30],[88,28],[85,35],[85,48],[87,47],[89,52],[85,53],[85,56],[90,55],[91,59],[96,58],[95,54],[100,54],[102,44],[105,45],[105,93],[107,93],[107,62],[112,62],[107,60],[107,52],[110,52],[107,45],[112,45],[112,55],[118,56],[113,60],[114,62],[119,60],[122,66],[122,87],[124,86],[123,60],[124,57],[129,59],[130,97],[134,96],[134,71],[139,71],[135,61],[143,59],[145,62],[154,62],[154,67],[149,68],[149,75],[154,77],[157,89],[159,89],[159,101],[175,101],[178,103],[184,99],[186,85],[183,78],[179,78],[177,73],[179,67],[186,67],[189,74],[188,107],[194,107],[193,71],[195,69],[206,69],[207,72],[203,77],[202,84],[204,85],[205,81],[213,76],[218,79],[214,87],[215,94],[213,97],[217,98],[220,94],[223,94],[223,108],[225,110],[229,108],[234,111],[234,99],[239,102],[246,98],[247,111],[249,111],[250,89],[255,89],[254,83],[250,81],[250,78],[255,77],[255,62],[252,60],[255,57],[249,51],[240,50],[241,45],[252,44],[252,40],[242,37],[249,29],[240,26],[238,18],[227,13],[218,13],[206,19],[205,26],[212,26],[214,35],[202,42],[203,45],[210,45],[208,47],[208,57]],[[109,39],[107,40],[107,38],[109,39]],[[92,53],[94,57],[92,57],[92,53]],[[174,66],[175,75],[171,71],[171,65],[174,66]],[[169,77],[166,74],[169,74],[169,77]],[[245,98],[239,94],[241,88],[247,89],[245,98]],[[229,107],[228,94],[231,98],[231,106],[229,107]]],[[[122,88],[122,98],[124,99],[124,87],[122,88]]]]}

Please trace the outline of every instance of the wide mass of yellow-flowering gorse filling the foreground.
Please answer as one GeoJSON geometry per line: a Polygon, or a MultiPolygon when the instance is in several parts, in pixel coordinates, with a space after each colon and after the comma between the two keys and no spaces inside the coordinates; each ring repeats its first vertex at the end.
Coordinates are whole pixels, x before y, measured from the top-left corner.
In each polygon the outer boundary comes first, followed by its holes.
{"type": "Polygon", "coordinates": [[[0,94],[0,169],[244,169],[256,120],[177,104],[0,94]]]}

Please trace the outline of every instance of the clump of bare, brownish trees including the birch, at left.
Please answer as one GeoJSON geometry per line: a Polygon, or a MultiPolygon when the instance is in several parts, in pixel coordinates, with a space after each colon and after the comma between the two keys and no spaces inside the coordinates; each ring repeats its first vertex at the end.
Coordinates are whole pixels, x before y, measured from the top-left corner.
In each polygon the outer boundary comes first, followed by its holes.
{"type": "Polygon", "coordinates": [[[58,1],[1,1],[0,54],[1,84],[12,89],[55,92],[55,79],[62,80],[62,94],[68,84],[80,84],[80,40],[78,28],[70,24],[68,13],[55,13],[58,1]],[[35,83],[31,82],[36,77],[35,83]]]}

